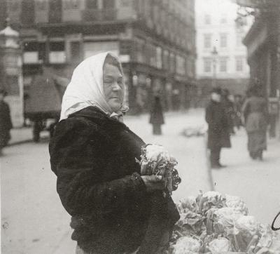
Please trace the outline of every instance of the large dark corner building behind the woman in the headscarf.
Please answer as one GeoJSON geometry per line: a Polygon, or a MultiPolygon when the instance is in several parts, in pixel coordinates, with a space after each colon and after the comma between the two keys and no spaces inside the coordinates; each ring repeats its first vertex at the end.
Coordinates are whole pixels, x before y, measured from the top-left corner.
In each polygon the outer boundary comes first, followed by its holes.
{"type": "MultiPolygon", "coordinates": [[[[2,0],[20,31],[25,93],[42,67],[71,77],[78,62],[113,51],[123,63],[132,112],[160,93],[165,109],[186,108],[195,93],[194,0],[2,0]]],[[[0,24],[3,20],[0,20],[0,24]]]]}

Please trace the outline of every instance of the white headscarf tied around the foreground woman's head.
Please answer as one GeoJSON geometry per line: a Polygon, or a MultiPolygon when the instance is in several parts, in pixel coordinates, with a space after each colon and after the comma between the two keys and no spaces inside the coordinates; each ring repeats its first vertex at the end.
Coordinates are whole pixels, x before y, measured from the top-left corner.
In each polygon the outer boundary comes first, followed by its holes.
{"type": "MultiPolygon", "coordinates": [[[[99,53],[83,60],[83,62],[80,62],[76,69],[74,69],[71,81],[63,95],[62,111],[59,121],[67,119],[70,114],[89,106],[98,107],[109,115],[114,114],[113,110],[106,102],[104,95],[103,66],[107,55],[111,55],[118,60],[118,57],[113,55],[113,53],[99,53]]],[[[123,74],[121,65],[120,72],[123,74]]],[[[125,98],[125,96],[123,96],[123,98],[125,98]]],[[[125,112],[127,109],[128,108],[123,105],[120,112],[125,112]]]]}

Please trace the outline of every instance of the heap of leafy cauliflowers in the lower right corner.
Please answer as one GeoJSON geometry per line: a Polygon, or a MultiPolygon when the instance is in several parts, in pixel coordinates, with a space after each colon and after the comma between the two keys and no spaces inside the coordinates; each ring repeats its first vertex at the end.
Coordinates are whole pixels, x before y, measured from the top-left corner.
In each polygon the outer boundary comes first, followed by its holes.
{"type": "Polygon", "coordinates": [[[176,223],[169,253],[280,253],[280,240],[269,225],[248,215],[238,196],[206,192],[177,204],[176,223]]]}

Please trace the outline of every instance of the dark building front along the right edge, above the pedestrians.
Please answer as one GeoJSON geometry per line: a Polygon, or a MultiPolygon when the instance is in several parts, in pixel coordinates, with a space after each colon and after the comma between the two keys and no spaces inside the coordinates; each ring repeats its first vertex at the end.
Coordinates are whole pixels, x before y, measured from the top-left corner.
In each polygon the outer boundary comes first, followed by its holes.
{"type": "Polygon", "coordinates": [[[248,49],[251,80],[258,79],[268,102],[269,134],[275,137],[279,123],[280,103],[280,2],[263,0],[237,1],[241,6],[255,8],[255,21],[244,38],[248,49]]]}

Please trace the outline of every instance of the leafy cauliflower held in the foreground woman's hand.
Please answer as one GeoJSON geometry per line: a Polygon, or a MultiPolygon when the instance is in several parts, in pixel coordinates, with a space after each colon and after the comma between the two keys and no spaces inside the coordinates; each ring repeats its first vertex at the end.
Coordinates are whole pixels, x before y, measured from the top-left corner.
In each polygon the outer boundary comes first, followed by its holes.
{"type": "Polygon", "coordinates": [[[174,168],[176,159],[162,145],[148,144],[141,148],[141,175],[161,175],[169,194],[178,188],[181,178],[174,168]]]}

